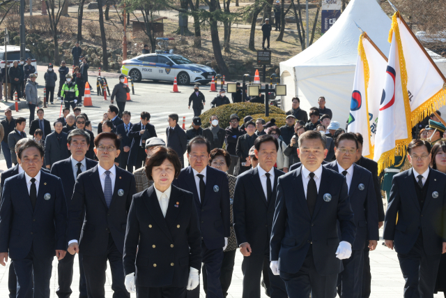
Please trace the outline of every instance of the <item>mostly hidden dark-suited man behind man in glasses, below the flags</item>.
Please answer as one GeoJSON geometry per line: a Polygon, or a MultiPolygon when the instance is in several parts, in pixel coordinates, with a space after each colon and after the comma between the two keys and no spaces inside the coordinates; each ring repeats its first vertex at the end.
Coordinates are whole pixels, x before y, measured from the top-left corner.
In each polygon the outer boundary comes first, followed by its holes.
{"type": "MultiPolygon", "coordinates": [[[[357,153],[355,163],[364,167],[364,169],[371,172],[371,177],[374,179],[374,188],[376,196],[376,207],[378,207],[378,228],[384,225],[384,205],[381,198],[380,181],[378,177],[378,163],[369,158],[362,156],[362,144],[364,139],[360,133],[355,133],[357,137],[357,153]]],[[[370,273],[370,258],[369,258],[369,239],[366,239],[364,247],[364,270],[362,271],[362,295],[363,298],[369,298],[371,292],[371,273],[370,273]]]]}

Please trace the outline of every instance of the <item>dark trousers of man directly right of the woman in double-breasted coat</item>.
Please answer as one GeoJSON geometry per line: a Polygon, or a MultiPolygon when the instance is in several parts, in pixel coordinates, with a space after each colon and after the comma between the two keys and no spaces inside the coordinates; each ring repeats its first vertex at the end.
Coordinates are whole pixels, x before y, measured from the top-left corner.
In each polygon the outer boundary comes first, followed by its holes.
{"type": "MultiPolygon", "coordinates": [[[[223,249],[208,249],[201,242],[201,257],[204,266],[206,267],[206,282],[207,288],[206,298],[222,298],[222,285],[220,283],[220,268],[222,268],[223,262],[223,249]]],[[[203,271],[204,274],[204,271],[203,271]]],[[[199,298],[200,297],[200,285],[192,291],[187,291],[187,298],[199,298]]],[[[90,297],[89,297],[90,298],[90,297]]]]}

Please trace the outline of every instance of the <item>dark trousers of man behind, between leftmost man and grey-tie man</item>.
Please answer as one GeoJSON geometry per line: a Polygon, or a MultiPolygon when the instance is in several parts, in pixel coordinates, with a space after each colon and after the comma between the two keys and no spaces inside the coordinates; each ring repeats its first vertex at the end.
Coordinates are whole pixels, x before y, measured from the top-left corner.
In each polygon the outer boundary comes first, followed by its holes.
{"type": "MultiPolygon", "coordinates": [[[[65,258],[60,260],[57,265],[59,288],[56,290],[56,295],[59,298],[70,298],[72,293],[72,267],[75,263],[75,256],[67,252],[65,258]]],[[[87,298],[84,267],[81,259],[82,255],[79,255],[79,298],[87,298]]]]}

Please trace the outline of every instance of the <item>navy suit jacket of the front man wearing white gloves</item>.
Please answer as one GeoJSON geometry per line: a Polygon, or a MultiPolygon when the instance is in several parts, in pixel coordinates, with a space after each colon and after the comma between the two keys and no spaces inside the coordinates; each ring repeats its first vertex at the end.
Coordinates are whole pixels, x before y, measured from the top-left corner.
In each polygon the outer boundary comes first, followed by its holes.
{"type": "Polygon", "coordinates": [[[270,242],[271,260],[279,260],[281,271],[294,274],[302,267],[312,243],[318,274],[339,274],[344,269],[342,261],[336,258],[339,238],[353,244],[356,232],[346,180],[342,174],[322,167],[321,186],[311,217],[301,170],[299,167],[279,177],[270,242]],[[325,195],[330,195],[331,200],[326,202],[325,195]],[[337,221],[341,227],[340,237],[337,221]]]}

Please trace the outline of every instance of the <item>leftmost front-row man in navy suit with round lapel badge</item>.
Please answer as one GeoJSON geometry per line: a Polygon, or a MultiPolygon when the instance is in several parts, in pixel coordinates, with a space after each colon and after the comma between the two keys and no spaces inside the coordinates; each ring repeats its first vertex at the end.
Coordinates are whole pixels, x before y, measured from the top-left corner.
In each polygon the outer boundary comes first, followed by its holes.
{"type": "Polygon", "coordinates": [[[49,297],[54,255],[66,254],[66,200],[61,179],[40,171],[43,148],[33,140],[17,152],[24,172],[6,179],[0,208],[0,264],[8,255],[17,276],[17,297],[49,297]],[[31,279],[34,281],[31,287],[31,279]]]}

